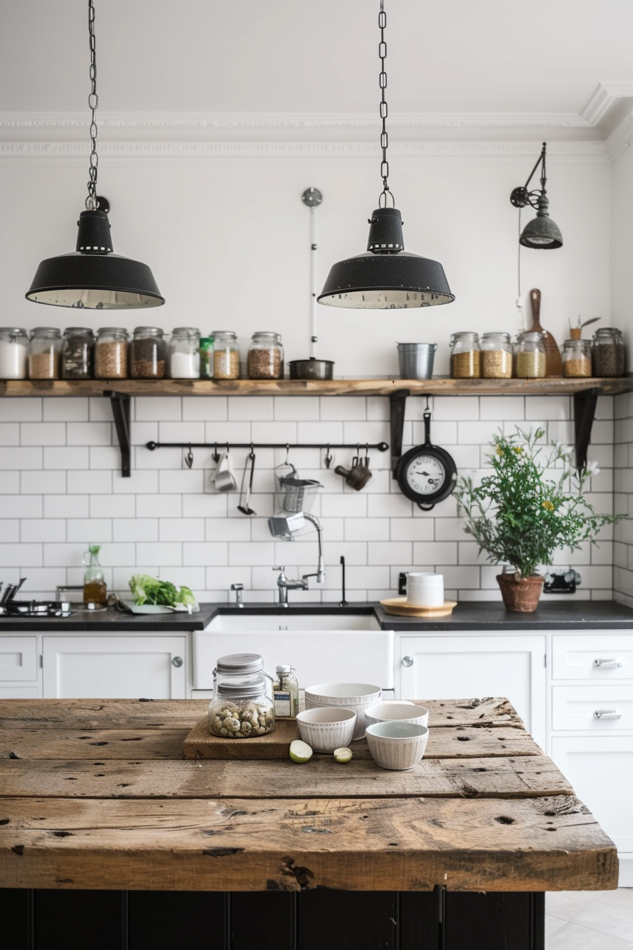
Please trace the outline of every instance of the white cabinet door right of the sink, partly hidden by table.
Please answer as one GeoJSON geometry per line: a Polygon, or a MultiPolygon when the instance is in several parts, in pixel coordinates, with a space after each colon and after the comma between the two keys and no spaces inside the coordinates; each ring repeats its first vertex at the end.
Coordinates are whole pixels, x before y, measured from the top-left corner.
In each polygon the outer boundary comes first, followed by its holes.
{"type": "Polygon", "coordinates": [[[545,637],[401,637],[400,697],[507,696],[545,749],[545,637]]]}

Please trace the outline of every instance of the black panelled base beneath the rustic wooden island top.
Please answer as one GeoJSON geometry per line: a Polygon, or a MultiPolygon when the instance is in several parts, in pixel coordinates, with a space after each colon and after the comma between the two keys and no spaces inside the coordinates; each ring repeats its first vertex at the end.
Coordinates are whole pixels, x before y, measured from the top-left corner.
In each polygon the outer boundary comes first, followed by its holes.
{"type": "Polygon", "coordinates": [[[0,890],[9,950],[544,950],[545,895],[0,890]]]}

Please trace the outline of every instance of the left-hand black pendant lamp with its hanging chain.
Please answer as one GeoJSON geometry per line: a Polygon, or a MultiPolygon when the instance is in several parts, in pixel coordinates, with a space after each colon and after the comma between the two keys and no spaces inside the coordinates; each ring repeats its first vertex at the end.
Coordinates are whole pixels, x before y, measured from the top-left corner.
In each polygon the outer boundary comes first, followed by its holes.
{"type": "Polygon", "coordinates": [[[77,249],[72,254],[48,257],[38,267],[27,293],[35,303],[56,307],[85,307],[94,310],[140,309],[159,307],[165,302],[156,280],[146,264],[112,253],[110,222],[107,211],[97,198],[97,63],[95,56],[95,10],[88,0],[90,38],[90,83],[88,104],[90,123],[90,180],[86,210],[77,222],[77,249]]]}

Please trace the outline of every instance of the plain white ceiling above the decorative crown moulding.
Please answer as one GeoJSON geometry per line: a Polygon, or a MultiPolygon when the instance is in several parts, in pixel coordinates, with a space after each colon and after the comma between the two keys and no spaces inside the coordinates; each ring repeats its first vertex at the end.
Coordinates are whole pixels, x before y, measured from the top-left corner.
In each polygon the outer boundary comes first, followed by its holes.
{"type": "MultiPolygon", "coordinates": [[[[379,0],[95,0],[101,114],[373,116],[379,0]]],[[[632,0],[385,0],[390,115],[592,128],[633,96],[632,0]],[[602,110],[585,113],[605,87],[602,110]]],[[[0,112],[87,115],[86,0],[3,0],[0,112]]],[[[476,123],[475,122],[475,123],[476,123]]]]}

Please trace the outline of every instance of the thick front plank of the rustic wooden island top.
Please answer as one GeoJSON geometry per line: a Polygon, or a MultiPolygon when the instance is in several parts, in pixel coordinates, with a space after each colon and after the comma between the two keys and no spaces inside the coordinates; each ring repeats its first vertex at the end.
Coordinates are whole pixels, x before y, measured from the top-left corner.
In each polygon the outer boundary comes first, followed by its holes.
{"type": "Polygon", "coordinates": [[[6,887],[586,890],[617,886],[576,798],[5,799],[6,887]]]}

